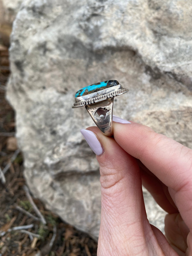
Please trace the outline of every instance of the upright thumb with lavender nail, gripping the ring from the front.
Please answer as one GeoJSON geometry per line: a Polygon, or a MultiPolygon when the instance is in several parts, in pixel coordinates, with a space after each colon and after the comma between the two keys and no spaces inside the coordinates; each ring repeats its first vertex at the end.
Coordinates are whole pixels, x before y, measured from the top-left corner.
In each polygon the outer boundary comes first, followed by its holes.
{"type": "Polygon", "coordinates": [[[97,127],[81,132],[98,155],[100,164],[101,224],[98,256],[140,255],[149,244],[158,247],[147,220],[136,159],[126,153],[113,138],[104,136],[97,127]]]}

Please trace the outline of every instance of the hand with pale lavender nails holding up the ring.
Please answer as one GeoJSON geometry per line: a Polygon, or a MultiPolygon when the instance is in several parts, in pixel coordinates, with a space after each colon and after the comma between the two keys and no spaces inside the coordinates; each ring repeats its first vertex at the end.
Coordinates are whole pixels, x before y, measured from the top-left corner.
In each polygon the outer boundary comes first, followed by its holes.
{"type": "Polygon", "coordinates": [[[114,138],[82,130],[100,164],[97,255],[192,255],[192,150],[147,126],[114,121],[114,138]],[[148,222],[141,184],[168,212],[166,238],[148,222]]]}

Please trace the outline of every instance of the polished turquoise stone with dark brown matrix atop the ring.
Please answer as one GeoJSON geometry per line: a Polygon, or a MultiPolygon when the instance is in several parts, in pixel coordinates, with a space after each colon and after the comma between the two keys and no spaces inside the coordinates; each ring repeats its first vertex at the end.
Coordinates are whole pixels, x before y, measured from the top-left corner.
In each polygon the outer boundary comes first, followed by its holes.
{"type": "Polygon", "coordinates": [[[112,87],[112,86],[115,86],[118,84],[119,84],[119,82],[117,80],[106,80],[106,81],[99,82],[96,84],[91,84],[91,85],[85,86],[84,88],[77,91],[75,94],[75,97],[84,96],[84,95],[90,94],[92,92],[98,92],[102,89],[106,89],[108,87],[112,87]]]}

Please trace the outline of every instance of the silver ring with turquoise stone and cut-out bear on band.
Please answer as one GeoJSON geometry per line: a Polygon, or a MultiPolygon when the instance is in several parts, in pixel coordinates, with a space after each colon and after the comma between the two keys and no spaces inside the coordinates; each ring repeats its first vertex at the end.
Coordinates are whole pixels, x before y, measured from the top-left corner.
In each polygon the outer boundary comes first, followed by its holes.
{"type": "Polygon", "coordinates": [[[75,94],[72,108],[85,106],[93,121],[105,136],[113,136],[113,100],[129,90],[117,80],[107,80],[88,85],[75,94]]]}

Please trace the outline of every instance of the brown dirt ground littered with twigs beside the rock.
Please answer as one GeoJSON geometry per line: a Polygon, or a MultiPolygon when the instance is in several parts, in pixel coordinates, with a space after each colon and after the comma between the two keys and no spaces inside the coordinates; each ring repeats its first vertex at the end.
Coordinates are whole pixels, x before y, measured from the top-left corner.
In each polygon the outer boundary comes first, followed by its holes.
{"type": "Polygon", "coordinates": [[[94,256],[97,243],[32,198],[17,148],[14,111],[5,99],[8,49],[0,41],[0,256],[94,256]]]}

